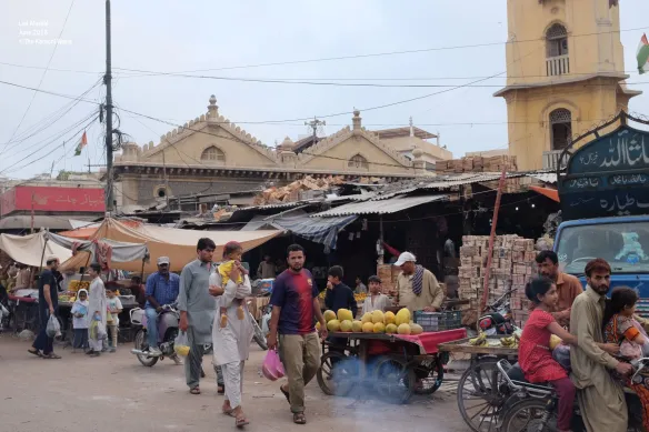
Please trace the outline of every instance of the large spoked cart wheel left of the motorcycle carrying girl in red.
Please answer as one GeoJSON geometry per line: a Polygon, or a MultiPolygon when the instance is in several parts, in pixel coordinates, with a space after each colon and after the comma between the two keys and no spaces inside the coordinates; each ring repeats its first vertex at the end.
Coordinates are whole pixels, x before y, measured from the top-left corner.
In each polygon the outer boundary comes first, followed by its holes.
{"type": "Polygon", "coordinates": [[[473,432],[496,432],[507,395],[500,392],[505,379],[495,361],[472,364],[458,383],[458,408],[473,432]]]}

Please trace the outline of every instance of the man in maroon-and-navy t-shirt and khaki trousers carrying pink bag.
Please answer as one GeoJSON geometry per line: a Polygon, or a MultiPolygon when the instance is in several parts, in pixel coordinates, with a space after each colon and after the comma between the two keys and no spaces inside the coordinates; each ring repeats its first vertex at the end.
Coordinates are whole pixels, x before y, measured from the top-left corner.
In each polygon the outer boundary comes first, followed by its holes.
{"type": "Polygon", "coordinates": [[[318,287],[304,265],[304,249],[299,244],[288,248],[289,269],[276,280],[270,304],[270,334],[268,348],[278,345],[284,365],[288,385],[280,388],[291,405],[293,422],[306,424],[304,386],[316,376],[320,366],[320,341],[316,334],[313,318],[320,323],[320,336],[327,338],[327,323],[320,311],[318,287]]]}

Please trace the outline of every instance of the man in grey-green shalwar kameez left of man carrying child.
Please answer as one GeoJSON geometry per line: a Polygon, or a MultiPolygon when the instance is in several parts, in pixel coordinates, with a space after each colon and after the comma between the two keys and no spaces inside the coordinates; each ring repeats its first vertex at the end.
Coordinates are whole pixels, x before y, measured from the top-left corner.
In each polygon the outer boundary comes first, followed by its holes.
{"type": "MultiPolygon", "coordinates": [[[[198,258],[187,264],[180,273],[180,330],[187,332],[189,355],[184,362],[184,378],[189,392],[200,394],[200,376],[204,345],[212,342],[212,321],[216,315],[214,297],[221,295],[219,287],[209,287],[210,274],[216,265],[212,255],[217,245],[211,239],[199,239],[196,247],[198,258]]],[[[218,375],[217,375],[218,376],[218,375]]]]}

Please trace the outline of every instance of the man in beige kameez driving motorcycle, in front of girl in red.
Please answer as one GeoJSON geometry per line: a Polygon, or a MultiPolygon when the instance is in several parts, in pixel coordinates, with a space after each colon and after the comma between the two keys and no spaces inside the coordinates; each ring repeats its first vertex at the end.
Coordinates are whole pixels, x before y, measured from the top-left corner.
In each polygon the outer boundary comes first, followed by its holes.
{"type": "Polygon", "coordinates": [[[586,264],[586,291],[579,294],[570,311],[570,333],[577,336],[578,349],[570,350],[572,382],[580,391],[577,400],[588,432],[625,432],[627,403],[625,392],[609,371],[622,375],[632,366],[605,352],[602,320],[611,268],[602,259],[586,264]]]}

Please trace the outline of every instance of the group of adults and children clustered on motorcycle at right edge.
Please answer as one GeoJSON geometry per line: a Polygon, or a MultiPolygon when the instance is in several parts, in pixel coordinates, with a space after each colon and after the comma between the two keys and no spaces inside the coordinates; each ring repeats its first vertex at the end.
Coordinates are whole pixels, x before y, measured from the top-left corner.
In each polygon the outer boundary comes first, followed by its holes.
{"type": "Polygon", "coordinates": [[[607,299],[611,268],[602,259],[586,265],[586,290],[559,271],[555,252],[541,252],[537,263],[539,277],[526,289],[532,312],[520,339],[519,364],[529,382],[555,386],[559,431],[570,431],[576,399],[588,431],[627,431],[625,386],[638,394],[649,430],[649,380],[629,379],[630,362],[649,354],[647,322],[636,314],[637,292],[617,287],[607,299]],[[552,334],[570,345],[569,370],[552,356],[552,334]]]}

